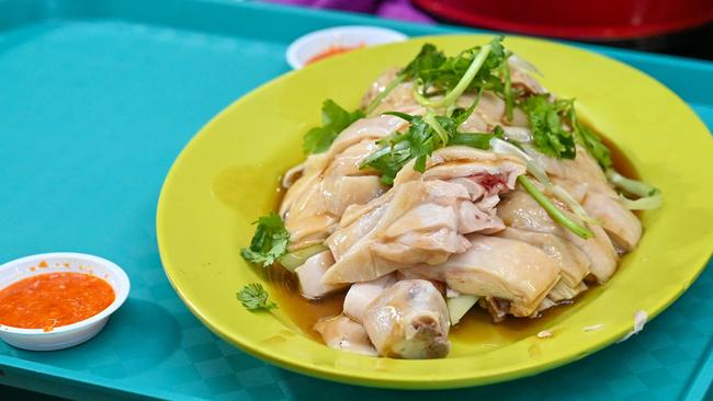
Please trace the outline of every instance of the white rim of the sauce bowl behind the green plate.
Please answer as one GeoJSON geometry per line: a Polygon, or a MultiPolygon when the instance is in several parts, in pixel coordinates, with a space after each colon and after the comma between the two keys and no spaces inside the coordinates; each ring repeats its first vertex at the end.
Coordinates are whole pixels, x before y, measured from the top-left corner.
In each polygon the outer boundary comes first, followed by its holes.
{"type": "Polygon", "coordinates": [[[293,42],[287,47],[287,64],[293,69],[303,68],[313,57],[332,46],[374,46],[406,41],[407,36],[394,30],[376,26],[348,25],[315,31],[293,42]]]}

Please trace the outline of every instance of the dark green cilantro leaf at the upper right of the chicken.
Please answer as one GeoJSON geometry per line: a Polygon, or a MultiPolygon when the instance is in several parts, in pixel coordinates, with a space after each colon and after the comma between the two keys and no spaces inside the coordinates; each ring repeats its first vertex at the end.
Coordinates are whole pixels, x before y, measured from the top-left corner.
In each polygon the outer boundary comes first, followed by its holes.
{"type": "Polygon", "coordinates": [[[563,128],[561,117],[561,114],[568,115],[571,101],[550,102],[547,94],[537,94],[522,101],[520,106],[528,114],[537,150],[557,159],[575,158],[575,138],[563,128]]]}

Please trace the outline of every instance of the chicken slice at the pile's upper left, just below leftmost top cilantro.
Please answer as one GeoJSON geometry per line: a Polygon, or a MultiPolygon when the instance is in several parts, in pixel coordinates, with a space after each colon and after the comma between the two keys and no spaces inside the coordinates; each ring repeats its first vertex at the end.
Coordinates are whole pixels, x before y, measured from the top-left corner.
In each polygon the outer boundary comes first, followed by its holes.
{"type": "Polygon", "coordinates": [[[360,163],[378,148],[376,140],[405,124],[394,116],[359,119],[328,151],[309,156],[301,169],[286,174],[290,186],[280,215],[290,232],[290,250],[324,241],[349,205],[367,203],[385,191],[378,176],[360,170],[360,163]]]}

